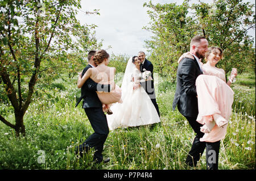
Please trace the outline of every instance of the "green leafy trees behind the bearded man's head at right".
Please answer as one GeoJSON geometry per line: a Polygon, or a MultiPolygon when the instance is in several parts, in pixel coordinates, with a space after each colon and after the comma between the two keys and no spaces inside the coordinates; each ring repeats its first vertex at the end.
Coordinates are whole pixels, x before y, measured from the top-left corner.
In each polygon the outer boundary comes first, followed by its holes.
{"type": "Polygon", "coordinates": [[[189,51],[195,35],[207,37],[209,47],[224,49],[224,60],[218,67],[226,72],[232,68],[237,68],[239,73],[246,69],[255,71],[253,37],[247,34],[250,28],[255,28],[254,5],[238,0],[219,0],[213,4],[199,1],[192,5],[189,1],[182,5],[153,5],[150,1],[144,6],[150,8],[147,13],[151,18],[144,28],[155,34],[146,45],[151,50],[150,60],[161,76],[175,81],[177,60],[189,51]]]}

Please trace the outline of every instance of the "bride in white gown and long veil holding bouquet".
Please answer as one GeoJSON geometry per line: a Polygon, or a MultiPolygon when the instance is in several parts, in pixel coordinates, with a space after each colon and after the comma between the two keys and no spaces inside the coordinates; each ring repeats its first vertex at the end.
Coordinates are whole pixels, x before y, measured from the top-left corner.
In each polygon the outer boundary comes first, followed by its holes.
{"type": "Polygon", "coordinates": [[[121,86],[123,103],[113,104],[113,115],[106,115],[110,130],[160,122],[150,96],[140,85],[141,82],[151,79],[145,78],[144,74],[142,76],[140,65],[141,61],[137,56],[127,62],[121,86]]]}

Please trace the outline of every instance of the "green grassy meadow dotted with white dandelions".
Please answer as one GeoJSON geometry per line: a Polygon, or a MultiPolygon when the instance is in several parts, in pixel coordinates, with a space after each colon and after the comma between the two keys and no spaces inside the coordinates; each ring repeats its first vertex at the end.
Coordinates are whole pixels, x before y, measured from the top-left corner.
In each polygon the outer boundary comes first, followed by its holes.
{"type": "MultiPolygon", "coordinates": [[[[111,131],[103,152],[110,162],[100,165],[92,163],[93,149],[85,158],[74,154],[93,133],[81,104],[75,108],[76,78],[39,83],[24,116],[26,137],[17,139],[0,123],[0,169],[206,169],[205,153],[197,167],[185,165],[195,133],[177,109],[171,110],[175,85],[158,82],[161,124],[111,131]]],[[[232,89],[233,113],[221,141],[219,169],[255,169],[255,75],[238,75],[232,89]]],[[[3,101],[0,112],[14,123],[9,103],[3,101]]]]}

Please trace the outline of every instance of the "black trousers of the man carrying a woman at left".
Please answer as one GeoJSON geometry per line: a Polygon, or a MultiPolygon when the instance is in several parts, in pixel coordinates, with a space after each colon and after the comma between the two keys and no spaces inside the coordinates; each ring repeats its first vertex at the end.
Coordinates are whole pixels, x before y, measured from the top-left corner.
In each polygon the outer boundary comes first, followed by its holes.
{"type": "Polygon", "coordinates": [[[102,151],[104,142],[109,134],[108,121],[102,108],[85,108],[84,110],[92,125],[94,133],[82,143],[80,151],[82,151],[81,149],[88,150],[89,148],[94,148],[96,151],[93,159],[97,159],[98,162],[101,162],[103,159],[102,151]]]}

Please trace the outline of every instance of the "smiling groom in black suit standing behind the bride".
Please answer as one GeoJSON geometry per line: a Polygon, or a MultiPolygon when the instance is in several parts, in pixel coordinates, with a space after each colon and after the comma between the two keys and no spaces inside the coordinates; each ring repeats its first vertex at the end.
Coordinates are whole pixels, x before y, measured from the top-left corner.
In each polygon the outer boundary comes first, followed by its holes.
{"type": "MultiPolygon", "coordinates": [[[[152,79],[154,79],[153,78],[154,66],[151,64],[150,61],[148,61],[146,59],[145,53],[140,51],[138,53],[138,57],[139,57],[139,60],[141,60],[141,72],[143,73],[143,71],[146,71],[146,70],[150,71],[151,72],[151,77],[152,77],[152,79]]],[[[156,99],[155,99],[154,81],[142,82],[141,86],[144,88],[144,90],[150,96],[150,99],[151,99],[152,103],[155,106],[156,112],[158,112],[158,116],[160,117],[160,112],[159,112],[158,104],[156,103],[156,99]]]]}

